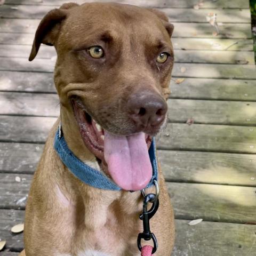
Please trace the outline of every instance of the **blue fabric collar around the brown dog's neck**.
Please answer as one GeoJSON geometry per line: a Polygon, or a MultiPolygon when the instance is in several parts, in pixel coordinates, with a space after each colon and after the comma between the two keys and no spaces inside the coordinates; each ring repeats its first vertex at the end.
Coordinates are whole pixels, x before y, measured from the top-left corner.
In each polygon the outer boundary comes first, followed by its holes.
{"type": "MultiPolygon", "coordinates": [[[[68,167],[69,171],[73,173],[76,178],[83,181],[87,185],[105,190],[122,190],[122,188],[118,187],[107,177],[106,174],[83,163],[73,154],[73,152],[68,148],[67,142],[61,132],[61,126],[59,126],[59,129],[55,134],[54,149],[57,151],[63,164],[68,167]]],[[[146,188],[153,186],[154,180],[157,180],[158,178],[158,166],[154,138],[152,139],[148,154],[153,168],[153,176],[146,188]]]]}

